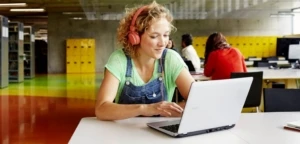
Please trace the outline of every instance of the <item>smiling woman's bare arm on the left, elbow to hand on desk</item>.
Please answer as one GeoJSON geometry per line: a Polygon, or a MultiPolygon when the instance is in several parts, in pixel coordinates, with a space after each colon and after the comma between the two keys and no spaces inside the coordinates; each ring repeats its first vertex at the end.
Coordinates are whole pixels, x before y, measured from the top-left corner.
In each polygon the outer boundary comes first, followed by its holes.
{"type": "Polygon", "coordinates": [[[172,116],[170,111],[182,113],[183,109],[175,103],[159,102],[154,104],[116,104],[113,103],[118,91],[119,80],[108,70],[98,92],[95,106],[96,117],[100,120],[120,120],[139,115],[143,116],[172,116]]]}

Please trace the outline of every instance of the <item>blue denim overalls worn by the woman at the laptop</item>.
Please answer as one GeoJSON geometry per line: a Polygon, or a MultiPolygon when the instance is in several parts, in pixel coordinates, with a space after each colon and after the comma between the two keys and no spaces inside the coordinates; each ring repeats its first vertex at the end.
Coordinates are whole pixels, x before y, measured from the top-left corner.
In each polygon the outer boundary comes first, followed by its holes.
{"type": "Polygon", "coordinates": [[[163,51],[162,58],[159,59],[158,74],[159,77],[146,83],[143,86],[135,86],[130,82],[132,73],[131,58],[126,55],[127,69],[126,81],[119,98],[119,104],[151,104],[168,99],[166,87],[164,85],[164,62],[167,49],[163,51]]]}

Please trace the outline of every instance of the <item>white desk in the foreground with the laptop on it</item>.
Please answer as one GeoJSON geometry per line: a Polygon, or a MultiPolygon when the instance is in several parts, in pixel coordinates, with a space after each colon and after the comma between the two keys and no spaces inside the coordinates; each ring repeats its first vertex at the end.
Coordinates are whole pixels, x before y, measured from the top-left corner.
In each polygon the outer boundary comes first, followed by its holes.
{"type": "Polygon", "coordinates": [[[300,120],[300,113],[243,113],[230,130],[172,138],[146,126],[148,122],[176,118],[131,118],[99,121],[83,118],[70,144],[299,144],[300,132],[283,129],[287,122],[300,120]]]}

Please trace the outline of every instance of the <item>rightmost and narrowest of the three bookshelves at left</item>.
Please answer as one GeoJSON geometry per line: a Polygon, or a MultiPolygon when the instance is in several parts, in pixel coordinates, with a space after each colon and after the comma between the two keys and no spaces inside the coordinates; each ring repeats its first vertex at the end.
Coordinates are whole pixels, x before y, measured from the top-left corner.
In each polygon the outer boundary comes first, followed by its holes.
{"type": "Polygon", "coordinates": [[[24,26],[24,78],[31,79],[35,76],[35,50],[34,31],[31,26],[24,26]]]}

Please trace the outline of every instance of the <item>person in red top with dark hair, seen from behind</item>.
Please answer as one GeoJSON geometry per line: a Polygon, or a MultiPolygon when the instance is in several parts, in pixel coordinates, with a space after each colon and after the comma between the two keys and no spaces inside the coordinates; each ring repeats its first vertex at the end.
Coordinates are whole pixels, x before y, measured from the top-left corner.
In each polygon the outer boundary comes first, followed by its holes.
{"type": "Polygon", "coordinates": [[[232,72],[247,72],[244,56],[230,47],[224,35],[211,34],[205,46],[204,75],[212,80],[228,79],[232,72]]]}

